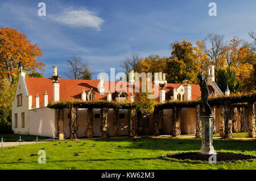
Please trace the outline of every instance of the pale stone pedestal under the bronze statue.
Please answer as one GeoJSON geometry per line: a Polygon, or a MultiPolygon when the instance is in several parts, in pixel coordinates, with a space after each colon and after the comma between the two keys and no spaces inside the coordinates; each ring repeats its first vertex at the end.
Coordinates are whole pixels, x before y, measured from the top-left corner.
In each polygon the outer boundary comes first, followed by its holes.
{"type": "Polygon", "coordinates": [[[212,119],[213,115],[200,114],[202,123],[201,154],[216,154],[212,145],[212,119]]]}

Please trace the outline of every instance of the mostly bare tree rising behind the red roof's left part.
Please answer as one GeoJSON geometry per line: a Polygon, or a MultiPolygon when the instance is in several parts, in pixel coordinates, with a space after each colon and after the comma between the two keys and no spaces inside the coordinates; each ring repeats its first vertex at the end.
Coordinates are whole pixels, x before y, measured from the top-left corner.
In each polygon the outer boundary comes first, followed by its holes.
{"type": "Polygon", "coordinates": [[[67,60],[68,67],[65,68],[65,75],[72,79],[92,79],[92,71],[86,62],[79,56],[72,56],[67,60]]]}

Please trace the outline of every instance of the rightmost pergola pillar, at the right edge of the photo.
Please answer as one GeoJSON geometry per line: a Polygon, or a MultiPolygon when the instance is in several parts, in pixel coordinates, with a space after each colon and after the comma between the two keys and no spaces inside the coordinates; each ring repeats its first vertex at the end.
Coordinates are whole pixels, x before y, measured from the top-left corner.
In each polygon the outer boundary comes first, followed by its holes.
{"type": "Polygon", "coordinates": [[[255,103],[249,102],[248,103],[248,134],[250,138],[256,137],[256,130],[255,130],[255,116],[256,116],[256,108],[255,103]]]}

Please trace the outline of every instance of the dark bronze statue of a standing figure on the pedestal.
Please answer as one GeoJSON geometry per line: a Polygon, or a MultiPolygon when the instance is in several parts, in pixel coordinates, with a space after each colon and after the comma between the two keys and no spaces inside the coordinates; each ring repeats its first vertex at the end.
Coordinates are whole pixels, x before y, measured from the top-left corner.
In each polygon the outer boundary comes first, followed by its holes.
{"type": "Polygon", "coordinates": [[[203,106],[204,108],[205,115],[211,115],[212,110],[210,109],[210,106],[208,104],[209,90],[208,90],[207,82],[203,79],[200,73],[197,75],[197,78],[200,80],[199,86],[201,90],[201,106],[203,106]]]}

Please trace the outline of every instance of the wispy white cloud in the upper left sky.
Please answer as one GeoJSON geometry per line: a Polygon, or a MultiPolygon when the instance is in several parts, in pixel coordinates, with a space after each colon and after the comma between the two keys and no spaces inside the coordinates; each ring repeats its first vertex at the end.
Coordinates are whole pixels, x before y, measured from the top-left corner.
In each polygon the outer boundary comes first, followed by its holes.
{"type": "Polygon", "coordinates": [[[92,27],[100,31],[104,20],[96,15],[95,12],[88,10],[64,10],[59,14],[50,15],[55,22],[75,27],[92,27]]]}

